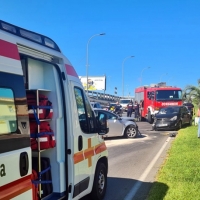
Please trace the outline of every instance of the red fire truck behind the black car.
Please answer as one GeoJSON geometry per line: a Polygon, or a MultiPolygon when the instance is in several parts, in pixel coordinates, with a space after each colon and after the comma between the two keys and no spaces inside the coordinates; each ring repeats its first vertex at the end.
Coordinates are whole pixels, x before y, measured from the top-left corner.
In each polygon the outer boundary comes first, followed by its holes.
{"type": "Polygon", "coordinates": [[[154,115],[161,107],[182,105],[182,90],[165,84],[142,86],[135,89],[135,100],[142,101],[140,120],[146,118],[149,123],[153,123],[154,115]]]}

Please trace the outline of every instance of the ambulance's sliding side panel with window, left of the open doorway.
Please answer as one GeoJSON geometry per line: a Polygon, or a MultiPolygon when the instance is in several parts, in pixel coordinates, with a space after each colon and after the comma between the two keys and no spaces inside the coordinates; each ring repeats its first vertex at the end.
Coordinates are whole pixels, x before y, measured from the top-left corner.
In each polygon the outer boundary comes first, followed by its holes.
{"type": "Polygon", "coordinates": [[[32,199],[29,119],[22,67],[17,45],[5,36],[0,31],[0,199],[32,199]]]}

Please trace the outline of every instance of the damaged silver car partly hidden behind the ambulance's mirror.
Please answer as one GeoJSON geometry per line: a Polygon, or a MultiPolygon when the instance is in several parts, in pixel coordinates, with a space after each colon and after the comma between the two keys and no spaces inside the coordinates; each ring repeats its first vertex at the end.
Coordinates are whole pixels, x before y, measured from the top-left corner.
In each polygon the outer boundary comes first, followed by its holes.
{"type": "Polygon", "coordinates": [[[124,136],[126,138],[135,138],[138,135],[138,125],[135,120],[130,117],[119,117],[118,115],[103,109],[94,109],[98,115],[101,111],[106,114],[109,132],[107,137],[124,136]]]}

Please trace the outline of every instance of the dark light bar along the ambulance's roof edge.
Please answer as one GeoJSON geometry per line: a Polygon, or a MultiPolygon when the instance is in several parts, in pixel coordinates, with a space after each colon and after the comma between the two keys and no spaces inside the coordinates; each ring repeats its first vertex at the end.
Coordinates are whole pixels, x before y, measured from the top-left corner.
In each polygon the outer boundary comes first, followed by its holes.
{"type": "Polygon", "coordinates": [[[9,24],[2,20],[0,20],[0,29],[61,52],[58,45],[53,40],[51,40],[50,38],[46,36],[22,29],[18,26],[9,24]]]}

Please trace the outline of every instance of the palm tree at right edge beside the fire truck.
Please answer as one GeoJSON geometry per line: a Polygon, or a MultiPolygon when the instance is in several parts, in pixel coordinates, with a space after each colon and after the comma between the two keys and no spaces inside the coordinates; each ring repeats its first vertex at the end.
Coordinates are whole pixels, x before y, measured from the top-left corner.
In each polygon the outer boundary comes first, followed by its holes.
{"type": "Polygon", "coordinates": [[[195,104],[200,103],[200,79],[198,79],[198,87],[193,85],[188,85],[183,90],[182,99],[188,102],[194,102],[195,104]]]}

